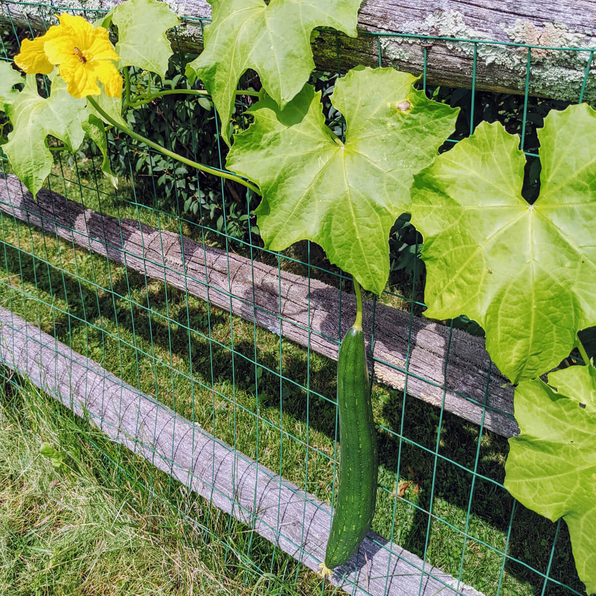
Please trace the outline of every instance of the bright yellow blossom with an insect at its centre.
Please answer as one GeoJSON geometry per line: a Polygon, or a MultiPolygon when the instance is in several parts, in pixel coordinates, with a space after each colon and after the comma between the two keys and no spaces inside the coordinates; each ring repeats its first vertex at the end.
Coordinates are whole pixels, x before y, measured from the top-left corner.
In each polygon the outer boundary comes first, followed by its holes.
{"type": "Polygon", "coordinates": [[[108,39],[107,29],[94,27],[83,17],[61,14],[60,24],[48,29],[41,38],[27,44],[26,51],[15,56],[18,67],[27,73],[48,74],[52,65],[68,84],[73,97],[99,95],[97,81],[110,97],[122,94],[122,77],[112,60],[120,57],[108,39]]]}

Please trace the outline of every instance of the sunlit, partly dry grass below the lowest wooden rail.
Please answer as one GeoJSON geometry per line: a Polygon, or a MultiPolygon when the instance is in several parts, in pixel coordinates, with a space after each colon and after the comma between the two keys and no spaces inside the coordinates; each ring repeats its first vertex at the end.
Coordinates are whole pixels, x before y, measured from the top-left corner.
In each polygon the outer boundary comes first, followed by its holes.
{"type": "Polygon", "coordinates": [[[0,594],[321,594],[246,526],[14,377],[0,384],[0,481],[0,594]]]}

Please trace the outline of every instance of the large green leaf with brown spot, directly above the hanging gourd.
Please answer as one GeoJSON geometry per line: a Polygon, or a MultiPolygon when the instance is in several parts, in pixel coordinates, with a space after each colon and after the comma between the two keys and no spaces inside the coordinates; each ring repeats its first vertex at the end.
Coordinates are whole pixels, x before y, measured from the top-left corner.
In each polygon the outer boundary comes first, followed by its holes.
{"type": "Polygon", "coordinates": [[[332,263],[380,293],[389,275],[389,231],[408,210],[412,173],[431,162],[458,110],[437,104],[393,69],[339,79],[333,103],[347,120],[343,144],[325,126],[321,95],[306,85],[283,110],[271,99],[235,138],[227,166],[259,184],[265,246],[320,244],[332,263]]]}

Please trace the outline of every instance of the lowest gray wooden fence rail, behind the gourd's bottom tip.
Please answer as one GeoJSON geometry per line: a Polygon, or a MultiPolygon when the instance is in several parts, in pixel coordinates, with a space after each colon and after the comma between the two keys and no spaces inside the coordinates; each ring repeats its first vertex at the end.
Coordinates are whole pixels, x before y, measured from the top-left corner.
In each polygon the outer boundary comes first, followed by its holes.
{"type": "MultiPolygon", "coordinates": [[[[26,375],[76,414],[87,415],[110,439],[253,527],[309,569],[318,569],[331,508],[315,496],[2,307],[0,362],[26,375]]],[[[349,594],[355,592],[356,583],[359,594],[373,596],[482,596],[374,532],[337,570],[332,583],[349,594]]]]}

